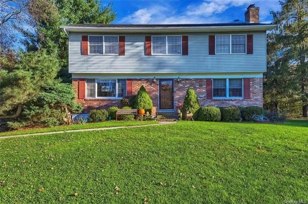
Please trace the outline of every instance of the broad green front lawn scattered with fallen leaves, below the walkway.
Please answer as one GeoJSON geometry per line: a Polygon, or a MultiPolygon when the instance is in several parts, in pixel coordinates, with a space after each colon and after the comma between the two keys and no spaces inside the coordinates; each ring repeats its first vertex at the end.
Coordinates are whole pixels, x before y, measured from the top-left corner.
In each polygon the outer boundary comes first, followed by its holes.
{"type": "Polygon", "coordinates": [[[305,122],[183,121],[3,139],[0,203],[308,200],[305,122]]]}

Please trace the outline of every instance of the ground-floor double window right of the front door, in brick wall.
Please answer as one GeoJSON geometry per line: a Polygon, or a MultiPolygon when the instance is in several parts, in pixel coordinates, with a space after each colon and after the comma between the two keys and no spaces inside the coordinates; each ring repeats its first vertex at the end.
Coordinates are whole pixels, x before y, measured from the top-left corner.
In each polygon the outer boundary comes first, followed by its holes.
{"type": "Polygon", "coordinates": [[[242,98],[243,79],[213,79],[213,98],[242,98]]]}

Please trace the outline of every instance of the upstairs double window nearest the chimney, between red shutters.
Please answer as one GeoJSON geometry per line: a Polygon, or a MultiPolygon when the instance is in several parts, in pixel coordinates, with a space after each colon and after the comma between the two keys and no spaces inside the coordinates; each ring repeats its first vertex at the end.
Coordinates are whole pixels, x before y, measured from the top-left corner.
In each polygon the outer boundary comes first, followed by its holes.
{"type": "Polygon", "coordinates": [[[246,35],[216,35],[216,54],[245,54],[246,35]]]}

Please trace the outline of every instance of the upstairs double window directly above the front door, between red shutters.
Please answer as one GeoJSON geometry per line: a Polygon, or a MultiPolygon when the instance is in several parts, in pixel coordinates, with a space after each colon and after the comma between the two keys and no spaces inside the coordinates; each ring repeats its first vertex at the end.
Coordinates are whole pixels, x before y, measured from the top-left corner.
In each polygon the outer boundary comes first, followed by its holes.
{"type": "Polygon", "coordinates": [[[181,36],[152,36],[153,55],[180,55],[182,54],[181,36]]]}

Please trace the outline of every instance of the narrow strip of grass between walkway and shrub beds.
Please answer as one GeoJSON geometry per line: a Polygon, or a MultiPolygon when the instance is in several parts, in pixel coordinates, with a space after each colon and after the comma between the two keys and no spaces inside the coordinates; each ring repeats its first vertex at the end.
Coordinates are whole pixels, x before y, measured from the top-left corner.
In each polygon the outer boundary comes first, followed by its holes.
{"type": "Polygon", "coordinates": [[[1,136],[10,136],[10,135],[24,135],[24,134],[33,134],[33,133],[42,133],[42,132],[54,132],[54,131],[67,131],[67,130],[81,130],[81,129],[92,129],[92,128],[108,128],[108,127],[119,127],[119,126],[133,126],[133,125],[147,125],[155,124],[157,121],[105,121],[100,123],[87,123],[80,125],[63,125],[55,126],[51,128],[31,128],[26,130],[16,130],[1,132],[1,136]]]}

